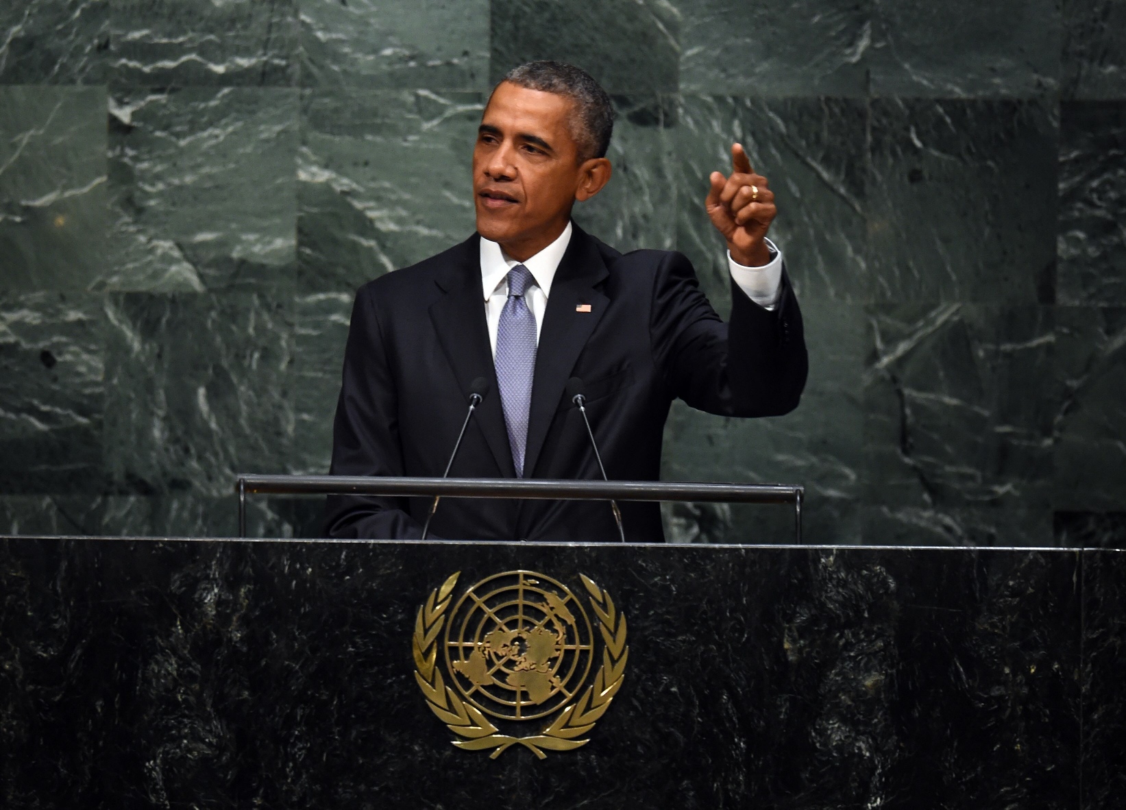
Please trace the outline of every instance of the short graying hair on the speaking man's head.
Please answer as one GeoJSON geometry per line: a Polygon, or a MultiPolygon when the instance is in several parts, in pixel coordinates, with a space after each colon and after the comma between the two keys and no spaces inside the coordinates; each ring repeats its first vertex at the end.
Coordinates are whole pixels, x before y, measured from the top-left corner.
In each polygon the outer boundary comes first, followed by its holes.
{"type": "Polygon", "coordinates": [[[605,158],[614,133],[614,104],[587,71],[564,62],[526,62],[510,70],[501,82],[540,92],[553,92],[574,101],[578,126],[572,135],[579,144],[579,160],[605,158]]]}

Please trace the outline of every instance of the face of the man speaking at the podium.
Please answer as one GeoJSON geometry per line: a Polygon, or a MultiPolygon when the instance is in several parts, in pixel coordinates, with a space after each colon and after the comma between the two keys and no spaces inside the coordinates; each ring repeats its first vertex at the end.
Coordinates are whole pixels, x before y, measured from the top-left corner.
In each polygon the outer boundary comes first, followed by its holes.
{"type": "Polygon", "coordinates": [[[473,150],[477,232],[485,239],[538,251],[563,231],[591,162],[579,162],[568,126],[572,105],[509,82],[493,91],[473,150]]]}

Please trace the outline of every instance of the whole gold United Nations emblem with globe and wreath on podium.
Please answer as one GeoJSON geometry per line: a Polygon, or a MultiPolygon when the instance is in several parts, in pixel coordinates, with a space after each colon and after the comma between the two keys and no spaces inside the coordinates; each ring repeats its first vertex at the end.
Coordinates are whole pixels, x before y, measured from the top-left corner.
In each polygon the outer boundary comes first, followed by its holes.
{"type": "Polygon", "coordinates": [[[626,617],[610,595],[580,575],[591,625],[582,600],[543,573],[498,573],[455,603],[458,576],[419,607],[411,644],[414,677],[430,710],[459,738],[454,745],[492,750],[492,758],[521,745],[540,759],[545,749],[586,745],[579,738],[622,687],[629,655],[626,617]],[[540,731],[515,733],[527,721],[539,721],[540,731]]]}

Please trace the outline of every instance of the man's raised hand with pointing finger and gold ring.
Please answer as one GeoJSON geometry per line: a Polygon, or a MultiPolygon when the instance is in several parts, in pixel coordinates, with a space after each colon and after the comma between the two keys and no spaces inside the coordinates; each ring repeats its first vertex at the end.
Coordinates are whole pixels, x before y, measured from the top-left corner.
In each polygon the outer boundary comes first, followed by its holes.
{"type": "Polygon", "coordinates": [[[712,172],[704,207],[715,229],[727,240],[731,258],[748,267],[769,264],[763,239],[778,214],[767,178],[756,175],[742,144],[731,144],[731,177],[712,172]]]}

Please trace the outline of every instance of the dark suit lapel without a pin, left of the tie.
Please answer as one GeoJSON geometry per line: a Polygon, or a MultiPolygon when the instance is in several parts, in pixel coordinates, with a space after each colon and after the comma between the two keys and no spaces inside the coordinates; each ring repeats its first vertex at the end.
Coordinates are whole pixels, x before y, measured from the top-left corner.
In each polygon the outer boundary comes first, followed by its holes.
{"type": "Polygon", "coordinates": [[[484,434],[501,475],[516,478],[481,294],[477,237],[468,239],[464,246],[466,251],[462,261],[450,266],[437,279],[445,295],[430,305],[430,320],[466,401],[474,380],[484,377],[489,381],[489,392],[477,407],[473,421],[484,434]]]}

